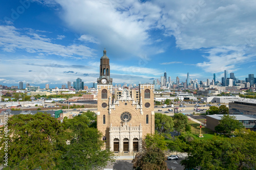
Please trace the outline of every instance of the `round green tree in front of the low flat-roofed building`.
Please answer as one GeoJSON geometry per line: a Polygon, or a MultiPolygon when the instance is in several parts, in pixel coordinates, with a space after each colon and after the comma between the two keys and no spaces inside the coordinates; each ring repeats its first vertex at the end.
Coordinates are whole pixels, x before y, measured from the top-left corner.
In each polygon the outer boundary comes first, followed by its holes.
{"type": "Polygon", "coordinates": [[[233,132],[236,129],[242,129],[243,123],[239,122],[239,120],[236,119],[236,116],[230,116],[230,115],[223,115],[223,117],[220,120],[219,125],[215,127],[215,130],[217,132],[221,132],[224,134],[230,135],[231,132],[233,132]]]}

